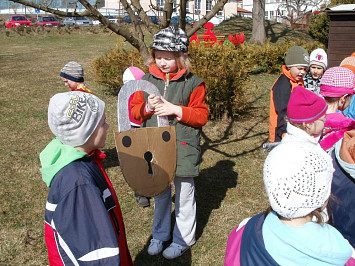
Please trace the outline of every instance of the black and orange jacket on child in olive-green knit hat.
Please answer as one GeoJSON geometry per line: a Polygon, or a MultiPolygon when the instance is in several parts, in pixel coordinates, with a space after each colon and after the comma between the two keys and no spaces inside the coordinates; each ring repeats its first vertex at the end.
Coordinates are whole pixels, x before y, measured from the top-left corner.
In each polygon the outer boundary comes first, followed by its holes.
{"type": "Polygon", "coordinates": [[[303,79],[296,81],[292,77],[286,66],[282,66],[282,71],[270,93],[270,117],[269,117],[269,139],[271,142],[281,141],[286,133],[287,105],[294,87],[302,86],[303,79]]]}

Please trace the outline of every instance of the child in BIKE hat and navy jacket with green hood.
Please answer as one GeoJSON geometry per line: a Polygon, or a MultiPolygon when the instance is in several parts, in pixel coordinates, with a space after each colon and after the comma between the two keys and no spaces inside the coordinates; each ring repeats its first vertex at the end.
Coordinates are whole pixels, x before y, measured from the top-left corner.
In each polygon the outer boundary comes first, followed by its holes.
{"type": "Polygon", "coordinates": [[[49,187],[45,240],[50,265],[133,265],[115,190],[102,166],[105,103],[71,91],[54,95],[48,125],[56,136],[40,154],[49,187]]]}

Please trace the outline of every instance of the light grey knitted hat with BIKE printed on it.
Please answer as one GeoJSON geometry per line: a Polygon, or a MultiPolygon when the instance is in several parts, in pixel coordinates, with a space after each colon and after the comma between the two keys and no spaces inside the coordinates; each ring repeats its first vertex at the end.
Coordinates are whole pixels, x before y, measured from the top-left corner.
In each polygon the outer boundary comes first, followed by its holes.
{"type": "Polygon", "coordinates": [[[105,103],[82,91],[58,93],[49,101],[48,125],[65,145],[85,144],[104,114],[105,103]]]}

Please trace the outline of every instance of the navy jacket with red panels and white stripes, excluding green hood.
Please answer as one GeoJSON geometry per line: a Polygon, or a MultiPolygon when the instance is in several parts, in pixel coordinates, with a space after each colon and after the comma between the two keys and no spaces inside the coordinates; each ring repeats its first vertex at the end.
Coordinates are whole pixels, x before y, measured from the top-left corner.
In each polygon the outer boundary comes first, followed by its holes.
{"type": "Polygon", "coordinates": [[[133,265],[120,205],[101,164],[104,157],[96,150],[50,180],[45,211],[50,265],[133,265]]]}

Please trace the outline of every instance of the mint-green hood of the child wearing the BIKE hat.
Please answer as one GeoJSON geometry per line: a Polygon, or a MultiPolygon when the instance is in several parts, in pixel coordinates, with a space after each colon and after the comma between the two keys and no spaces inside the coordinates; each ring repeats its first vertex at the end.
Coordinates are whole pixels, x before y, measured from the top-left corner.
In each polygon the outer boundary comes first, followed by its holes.
{"type": "Polygon", "coordinates": [[[53,139],[40,153],[42,179],[50,187],[54,176],[66,165],[86,156],[72,146],[64,145],[58,138],[53,139]]]}

